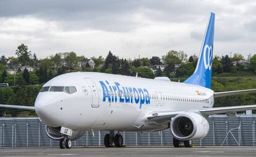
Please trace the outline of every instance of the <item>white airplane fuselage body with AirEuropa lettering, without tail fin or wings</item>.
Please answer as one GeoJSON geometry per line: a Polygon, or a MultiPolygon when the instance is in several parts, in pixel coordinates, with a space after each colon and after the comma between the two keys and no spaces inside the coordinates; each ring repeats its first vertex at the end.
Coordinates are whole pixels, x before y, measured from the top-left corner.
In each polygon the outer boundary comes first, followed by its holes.
{"type": "Polygon", "coordinates": [[[97,72],[59,75],[43,87],[49,89],[35,103],[40,119],[50,127],[74,130],[161,130],[168,123],[151,124],[149,114],[211,108],[214,103],[213,91],[198,85],[97,72]]]}

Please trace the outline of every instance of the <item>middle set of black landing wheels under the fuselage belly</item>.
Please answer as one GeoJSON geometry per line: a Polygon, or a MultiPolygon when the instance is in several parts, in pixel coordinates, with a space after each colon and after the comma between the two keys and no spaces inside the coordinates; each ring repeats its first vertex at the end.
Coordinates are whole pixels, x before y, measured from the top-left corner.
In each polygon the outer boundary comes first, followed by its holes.
{"type": "Polygon", "coordinates": [[[106,147],[112,147],[113,143],[116,147],[122,147],[124,140],[121,134],[117,133],[114,135],[114,131],[110,131],[109,134],[106,134],[104,137],[104,145],[106,147]]]}

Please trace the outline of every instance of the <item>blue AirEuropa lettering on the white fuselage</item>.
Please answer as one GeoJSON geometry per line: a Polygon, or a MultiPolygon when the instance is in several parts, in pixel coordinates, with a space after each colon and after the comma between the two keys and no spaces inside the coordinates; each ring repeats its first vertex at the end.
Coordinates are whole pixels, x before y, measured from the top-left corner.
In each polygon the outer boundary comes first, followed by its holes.
{"type": "Polygon", "coordinates": [[[122,87],[119,82],[114,82],[114,85],[110,85],[107,80],[105,82],[100,81],[103,102],[136,103],[140,104],[140,108],[142,104],[150,104],[150,95],[145,88],[122,87]]]}

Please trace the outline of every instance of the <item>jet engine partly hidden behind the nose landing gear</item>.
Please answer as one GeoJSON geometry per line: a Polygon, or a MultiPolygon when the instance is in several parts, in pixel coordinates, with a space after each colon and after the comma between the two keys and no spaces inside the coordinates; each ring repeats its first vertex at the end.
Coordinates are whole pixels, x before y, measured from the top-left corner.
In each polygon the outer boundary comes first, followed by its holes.
{"type": "MultiPolygon", "coordinates": [[[[61,135],[61,127],[49,127],[48,125],[45,125],[45,131],[49,138],[53,140],[60,140],[61,138],[64,138],[63,135],[61,135]]],[[[70,140],[77,140],[83,135],[83,130],[73,130],[72,135],[68,137],[70,140]]]]}

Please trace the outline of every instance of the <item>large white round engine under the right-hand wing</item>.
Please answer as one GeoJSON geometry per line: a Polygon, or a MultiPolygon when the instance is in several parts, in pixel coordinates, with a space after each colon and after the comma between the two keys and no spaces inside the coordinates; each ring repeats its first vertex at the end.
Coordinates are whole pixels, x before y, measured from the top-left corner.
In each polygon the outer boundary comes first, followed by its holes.
{"type": "Polygon", "coordinates": [[[177,140],[198,140],[208,134],[207,119],[195,112],[178,114],[171,121],[171,132],[177,140]]]}

